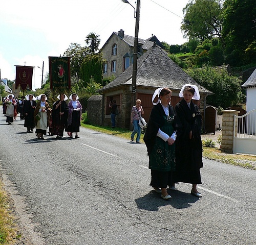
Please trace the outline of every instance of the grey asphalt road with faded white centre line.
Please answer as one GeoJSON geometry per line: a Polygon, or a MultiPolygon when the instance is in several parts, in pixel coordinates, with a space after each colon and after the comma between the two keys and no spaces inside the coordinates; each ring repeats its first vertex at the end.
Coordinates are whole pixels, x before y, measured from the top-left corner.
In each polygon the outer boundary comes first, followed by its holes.
{"type": "Polygon", "coordinates": [[[256,244],[256,171],[203,159],[203,198],[180,183],[164,201],[144,144],[84,128],[38,141],[17,119],[0,113],[0,173],[32,244],[256,244]]]}

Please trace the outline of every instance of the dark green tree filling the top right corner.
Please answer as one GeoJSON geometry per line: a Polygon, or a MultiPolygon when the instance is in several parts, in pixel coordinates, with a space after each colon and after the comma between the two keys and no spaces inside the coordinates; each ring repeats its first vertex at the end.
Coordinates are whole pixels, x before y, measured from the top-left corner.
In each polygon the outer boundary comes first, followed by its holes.
{"type": "Polygon", "coordinates": [[[224,2],[222,34],[226,37],[227,49],[229,48],[230,51],[236,49],[245,51],[256,40],[255,0],[224,2]]]}

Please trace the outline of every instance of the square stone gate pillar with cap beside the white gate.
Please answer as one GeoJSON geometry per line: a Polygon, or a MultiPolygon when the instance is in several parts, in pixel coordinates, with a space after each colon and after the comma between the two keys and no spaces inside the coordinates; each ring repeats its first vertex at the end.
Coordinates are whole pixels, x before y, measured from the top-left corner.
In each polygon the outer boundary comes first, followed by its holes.
{"type": "Polygon", "coordinates": [[[240,111],[225,110],[221,112],[223,113],[222,114],[221,152],[233,153],[234,115],[237,116],[240,111]]]}

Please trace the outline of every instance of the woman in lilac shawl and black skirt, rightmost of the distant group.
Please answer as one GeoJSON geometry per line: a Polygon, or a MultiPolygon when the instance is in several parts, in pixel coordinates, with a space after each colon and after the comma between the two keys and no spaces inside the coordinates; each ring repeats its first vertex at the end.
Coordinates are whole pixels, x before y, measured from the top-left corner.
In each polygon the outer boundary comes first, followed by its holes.
{"type": "Polygon", "coordinates": [[[68,104],[69,116],[68,116],[68,127],[65,131],[68,132],[70,138],[73,138],[73,133],[75,133],[75,138],[80,138],[78,132],[80,129],[80,121],[82,119],[82,105],[78,101],[79,97],[76,93],[72,93],[69,97],[71,100],[68,104]]]}

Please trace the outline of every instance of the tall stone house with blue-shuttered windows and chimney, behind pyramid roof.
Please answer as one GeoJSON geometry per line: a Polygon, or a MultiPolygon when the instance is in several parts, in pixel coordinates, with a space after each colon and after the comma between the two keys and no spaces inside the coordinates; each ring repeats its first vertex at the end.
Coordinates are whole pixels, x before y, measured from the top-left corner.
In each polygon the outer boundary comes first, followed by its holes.
{"type": "MultiPolygon", "coordinates": [[[[149,50],[154,42],[162,46],[156,36],[144,40],[138,40],[138,58],[149,50]]],[[[133,64],[134,37],[125,35],[121,29],[118,33],[113,32],[102,46],[100,52],[105,60],[103,64],[103,77],[118,77],[125,69],[133,64]]]]}

